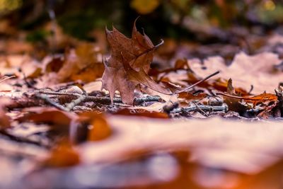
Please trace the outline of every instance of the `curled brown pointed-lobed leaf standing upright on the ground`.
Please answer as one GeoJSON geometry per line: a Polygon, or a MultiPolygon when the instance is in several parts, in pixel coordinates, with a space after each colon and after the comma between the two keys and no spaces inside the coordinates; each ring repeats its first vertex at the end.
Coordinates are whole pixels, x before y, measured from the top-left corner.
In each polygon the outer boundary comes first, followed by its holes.
{"type": "Polygon", "coordinates": [[[137,31],[136,21],[134,21],[132,39],[127,38],[114,27],[112,31],[105,28],[111,54],[104,61],[105,71],[102,78],[102,88],[109,91],[111,101],[115,91],[120,91],[122,102],[131,105],[134,102],[134,88],[138,84],[144,84],[154,91],[171,94],[171,91],[156,84],[147,74],[154,58],[154,50],[162,45],[163,41],[154,46],[147,35],[137,31]]]}

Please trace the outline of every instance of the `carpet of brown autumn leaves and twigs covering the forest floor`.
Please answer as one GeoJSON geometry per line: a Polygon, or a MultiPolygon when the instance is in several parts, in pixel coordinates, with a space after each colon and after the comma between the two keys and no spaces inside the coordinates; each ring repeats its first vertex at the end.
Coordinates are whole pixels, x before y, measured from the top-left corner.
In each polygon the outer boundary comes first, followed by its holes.
{"type": "Polygon", "coordinates": [[[132,38],[105,29],[109,54],[79,42],[42,59],[1,57],[0,151],[11,166],[0,183],[11,174],[10,188],[282,187],[279,54],[178,57],[136,22],[132,38]]]}

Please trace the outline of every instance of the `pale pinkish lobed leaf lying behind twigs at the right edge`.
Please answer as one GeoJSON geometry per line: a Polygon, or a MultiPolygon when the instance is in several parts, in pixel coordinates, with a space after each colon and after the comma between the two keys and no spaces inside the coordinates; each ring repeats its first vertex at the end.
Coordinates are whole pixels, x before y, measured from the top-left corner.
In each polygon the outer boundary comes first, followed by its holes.
{"type": "Polygon", "coordinates": [[[223,79],[233,79],[236,87],[246,91],[253,85],[253,93],[258,94],[266,91],[272,93],[278,84],[282,82],[282,71],[274,69],[276,64],[282,62],[277,54],[262,52],[257,55],[238,53],[230,66],[226,66],[222,57],[209,57],[200,62],[189,61],[190,68],[197,76],[205,77],[213,71],[220,70],[218,75],[223,79]]]}

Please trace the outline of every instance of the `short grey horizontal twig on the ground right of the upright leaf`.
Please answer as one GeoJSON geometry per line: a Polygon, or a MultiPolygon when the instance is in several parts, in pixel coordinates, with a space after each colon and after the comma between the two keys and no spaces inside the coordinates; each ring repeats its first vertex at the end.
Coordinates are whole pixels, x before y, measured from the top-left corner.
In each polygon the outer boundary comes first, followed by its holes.
{"type": "Polygon", "coordinates": [[[228,107],[225,105],[221,105],[221,106],[198,105],[198,107],[194,105],[187,108],[175,108],[174,110],[171,111],[171,113],[190,113],[200,109],[202,109],[202,111],[209,111],[209,112],[221,112],[221,111],[226,112],[228,110],[228,107]]]}

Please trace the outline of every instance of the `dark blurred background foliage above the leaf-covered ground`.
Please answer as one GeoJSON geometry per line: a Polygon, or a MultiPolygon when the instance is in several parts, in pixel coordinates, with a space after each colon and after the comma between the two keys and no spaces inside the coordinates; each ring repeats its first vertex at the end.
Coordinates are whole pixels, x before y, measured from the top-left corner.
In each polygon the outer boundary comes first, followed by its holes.
{"type": "Polygon", "coordinates": [[[44,42],[54,34],[46,27],[53,22],[73,38],[96,41],[93,33],[105,25],[114,24],[129,36],[140,16],[138,28],[145,28],[154,42],[209,43],[226,41],[229,36],[222,31],[235,27],[260,27],[264,34],[283,23],[282,12],[283,1],[275,0],[0,0],[0,35],[11,36],[5,27],[12,27],[25,31],[22,38],[28,42],[44,42]]]}

